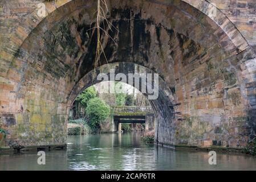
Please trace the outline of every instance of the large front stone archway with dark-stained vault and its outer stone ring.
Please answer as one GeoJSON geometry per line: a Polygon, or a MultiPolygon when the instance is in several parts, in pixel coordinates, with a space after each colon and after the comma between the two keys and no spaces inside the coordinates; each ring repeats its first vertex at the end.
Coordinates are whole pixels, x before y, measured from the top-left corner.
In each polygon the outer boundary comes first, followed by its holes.
{"type": "MultiPolygon", "coordinates": [[[[1,123],[23,146],[66,143],[69,97],[94,65],[95,1],[47,3],[15,28],[1,49],[1,123]]],[[[109,63],[142,65],[173,94],[166,144],[245,146],[255,135],[255,55],[221,11],[206,1],[109,1],[119,31],[103,36],[109,63]]],[[[100,65],[106,61],[101,57],[100,65]]],[[[168,119],[167,119],[168,120],[168,119]]]]}

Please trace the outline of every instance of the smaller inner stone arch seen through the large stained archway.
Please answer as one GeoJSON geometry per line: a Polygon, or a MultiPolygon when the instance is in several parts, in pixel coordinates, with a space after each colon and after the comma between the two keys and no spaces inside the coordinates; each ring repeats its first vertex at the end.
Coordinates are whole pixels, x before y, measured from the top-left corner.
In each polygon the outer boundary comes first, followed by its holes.
{"type": "MultiPolygon", "coordinates": [[[[95,70],[87,73],[72,89],[70,96],[68,97],[68,107],[72,105],[75,101],[75,98],[83,92],[84,89],[88,88],[91,85],[95,85],[101,80],[98,80],[95,77],[100,73],[104,73],[108,75],[108,81],[121,81],[126,84],[134,86],[136,89],[141,90],[141,86],[150,86],[151,88],[155,88],[158,90],[157,98],[153,98],[149,100],[149,103],[152,106],[152,109],[155,114],[156,126],[155,126],[155,137],[156,142],[158,143],[175,143],[175,124],[174,118],[181,119],[180,113],[174,112],[174,107],[176,105],[176,101],[174,100],[174,93],[168,86],[166,86],[166,82],[160,77],[156,82],[148,82],[144,79],[144,76],[141,77],[141,74],[155,74],[151,69],[145,68],[139,64],[128,63],[128,62],[117,62],[117,63],[109,63],[101,65],[97,67],[95,70]],[[119,73],[123,73],[127,79],[126,81],[121,79],[111,79],[111,70],[115,70],[114,75],[117,76],[119,73]],[[135,79],[133,82],[129,82],[128,77],[129,74],[133,74],[135,79]],[[140,79],[139,87],[136,87],[135,81],[140,79]]],[[[143,93],[146,97],[148,97],[148,93],[143,93]]]]}

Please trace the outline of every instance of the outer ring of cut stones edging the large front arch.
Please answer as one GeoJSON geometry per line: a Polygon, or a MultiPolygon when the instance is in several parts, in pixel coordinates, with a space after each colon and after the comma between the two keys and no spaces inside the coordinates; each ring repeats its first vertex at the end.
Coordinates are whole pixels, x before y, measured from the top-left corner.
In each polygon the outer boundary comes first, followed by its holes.
{"type": "MultiPolygon", "coordinates": [[[[201,13],[208,16],[209,19],[212,19],[214,23],[216,23],[222,31],[227,35],[226,39],[230,39],[233,42],[234,46],[239,48],[240,51],[243,51],[249,48],[246,39],[243,38],[239,30],[234,26],[234,24],[230,21],[227,16],[222,13],[216,7],[216,15],[209,15],[212,11],[215,3],[210,3],[206,0],[177,0],[177,1],[156,1],[156,0],[148,0],[149,3],[156,3],[163,6],[172,5],[175,3],[177,6],[192,6],[194,9],[201,11],[201,13]]],[[[19,23],[18,27],[15,30],[15,34],[11,36],[11,45],[10,48],[14,49],[14,51],[18,50],[21,44],[25,41],[25,39],[31,34],[35,27],[37,27],[44,19],[48,19],[52,21],[59,20],[63,16],[66,16],[78,9],[82,9],[83,7],[93,6],[93,2],[87,1],[79,1],[79,0],[62,0],[62,1],[50,1],[44,2],[46,5],[46,18],[40,17],[37,15],[38,9],[35,9],[28,16],[25,16],[25,19],[21,23],[19,23]],[[58,19],[52,19],[52,14],[58,14],[58,19]]],[[[37,5],[37,3],[35,3],[37,5]]],[[[10,55],[11,56],[11,55],[10,55]]]]}

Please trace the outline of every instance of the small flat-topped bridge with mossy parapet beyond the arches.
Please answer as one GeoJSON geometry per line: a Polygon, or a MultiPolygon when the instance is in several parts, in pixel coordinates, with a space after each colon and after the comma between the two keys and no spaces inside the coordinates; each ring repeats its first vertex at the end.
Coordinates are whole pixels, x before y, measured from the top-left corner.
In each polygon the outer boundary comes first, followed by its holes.
{"type": "Polygon", "coordinates": [[[113,131],[121,131],[121,123],[145,123],[146,130],[155,127],[155,114],[151,106],[111,106],[113,131]]]}

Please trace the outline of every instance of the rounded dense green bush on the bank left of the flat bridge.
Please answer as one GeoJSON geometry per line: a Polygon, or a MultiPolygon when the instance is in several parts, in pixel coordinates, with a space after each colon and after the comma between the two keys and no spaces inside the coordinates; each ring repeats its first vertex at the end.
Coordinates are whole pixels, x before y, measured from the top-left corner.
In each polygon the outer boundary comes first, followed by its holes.
{"type": "Polygon", "coordinates": [[[110,114],[110,107],[100,98],[92,98],[87,103],[86,114],[90,118],[88,124],[92,128],[99,128],[100,122],[103,122],[110,114]]]}

